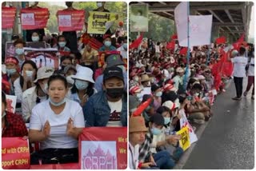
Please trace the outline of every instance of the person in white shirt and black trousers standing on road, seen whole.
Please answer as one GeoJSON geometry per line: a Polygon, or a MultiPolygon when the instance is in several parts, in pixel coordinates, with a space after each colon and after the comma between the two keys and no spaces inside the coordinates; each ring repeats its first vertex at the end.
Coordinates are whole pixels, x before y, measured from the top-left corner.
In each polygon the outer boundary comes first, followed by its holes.
{"type": "Polygon", "coordinates": [[[242,99],[242,79],[246,77],[247,64],[245,52],[246,49],[240,47],[239,56],[231,58],[231,62],[234,63],[234,85],[237,92],[237,96],[232,98],[235,101],[241,101],[242,99]]]}

